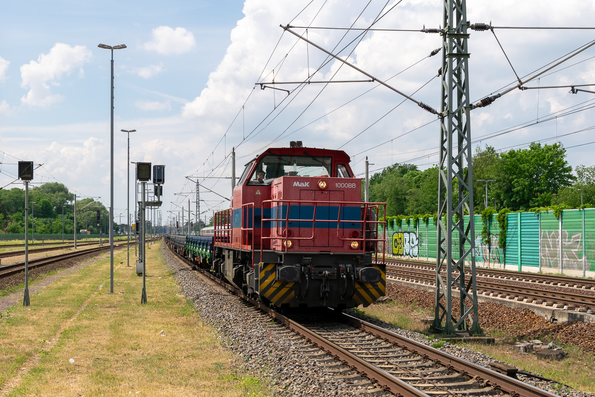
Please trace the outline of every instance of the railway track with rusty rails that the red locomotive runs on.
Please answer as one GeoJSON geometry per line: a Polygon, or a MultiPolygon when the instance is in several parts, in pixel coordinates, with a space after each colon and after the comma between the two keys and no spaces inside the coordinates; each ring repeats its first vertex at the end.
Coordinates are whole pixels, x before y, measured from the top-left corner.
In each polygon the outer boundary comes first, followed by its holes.
{"type": "MultiPolygon", "coordinates": [[[[196,268],[176,251],[171,251],[190,267],[196,268]]],[[[246,296],[214,274],[199,271],[217,286],[250,302],[316,346],[318,349],[309,351],[312,358],[323,362],[326,360],[328,365],[332,365],[330,361],[334,361],[333,358],[339,360],[343,369],[339,368],[335,372],[345,373],[342,379],[347,383],[367,387],[370,395],[389,391],[402,397],[552,396],[546,390],[512,376],[481,367],[341,312],[322,309],[317,310],[317,315],[300,312],[282,314],[246,296]],[[322,357],[324,355],[327,357],[322,357]]],[[[506,365],[494,365],[503,372],[507,371],[506,365]]],[[[514,367],[508,368],[508,373],[513,374],[511,368],[514,367]]]]}

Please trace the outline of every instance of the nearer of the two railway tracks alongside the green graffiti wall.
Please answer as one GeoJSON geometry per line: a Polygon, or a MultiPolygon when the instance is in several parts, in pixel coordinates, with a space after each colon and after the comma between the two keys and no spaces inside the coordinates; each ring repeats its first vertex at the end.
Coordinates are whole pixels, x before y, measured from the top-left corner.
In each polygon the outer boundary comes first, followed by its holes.
{"type": "MultiPolygon", "coordinates": [[[[436,285],[436,276],[427,273],[427,271],[430,270],[430,268],[427,268],[426,271],[419,271],[400,265],[387,265],[386,273],[387,276],[394,277],[395,279],[417,280],[418,282],[422,281],[431,285],[436,285]]],[[[478,295],[498,296],[499,298],[515,299],[516,301],[536,304],[549,302],[551,306],[562,305],[561,308],[572,307],[572,310],[580,308],[587,311],[595,308],[595,296],[584,295],[584,293],[580,293],[580,289],[576,289],[575,291],[577,292],[563,292],[560,290],[547,290],[533,286],[490,282],[483,280],[481,277],[477,278],[476,283],[478,295]]],[[[558,307],[556,306],[556,308],[558,307]]]]}

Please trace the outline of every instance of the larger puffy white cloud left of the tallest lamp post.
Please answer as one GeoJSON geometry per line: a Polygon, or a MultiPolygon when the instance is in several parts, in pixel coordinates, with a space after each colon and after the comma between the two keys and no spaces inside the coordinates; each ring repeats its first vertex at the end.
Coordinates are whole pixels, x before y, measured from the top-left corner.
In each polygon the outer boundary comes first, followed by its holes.
{"type": "Polygon", "coordinates": [[[46,107],[63,101],[64,97],[52,94],[48,82],[58,86],[62,74],[70,74],[76,68],[81,68],[84,62],[92,57],[86,46],[71,47],[68,44],[56,43],[49,54],[40,54],[37,61],[31,61],[21,66],[21,87],[29,88],[27,95],[21,98],[23,104],[46,107]]]}

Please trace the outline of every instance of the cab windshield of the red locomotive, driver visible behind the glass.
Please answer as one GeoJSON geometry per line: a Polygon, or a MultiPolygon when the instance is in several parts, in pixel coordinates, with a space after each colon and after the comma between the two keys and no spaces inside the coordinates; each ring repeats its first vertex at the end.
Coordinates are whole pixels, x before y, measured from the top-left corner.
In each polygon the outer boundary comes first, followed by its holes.
{"type": "Polygon", "coordinates": [[[281,176],[331,176],[331,157],[268,155],[256,166],[248,185],[269,185],[281,176]]]}

